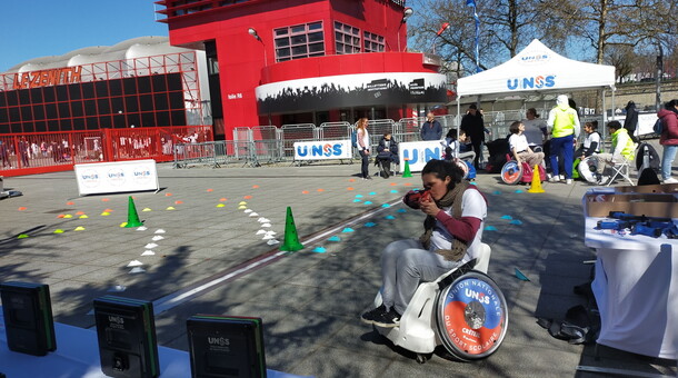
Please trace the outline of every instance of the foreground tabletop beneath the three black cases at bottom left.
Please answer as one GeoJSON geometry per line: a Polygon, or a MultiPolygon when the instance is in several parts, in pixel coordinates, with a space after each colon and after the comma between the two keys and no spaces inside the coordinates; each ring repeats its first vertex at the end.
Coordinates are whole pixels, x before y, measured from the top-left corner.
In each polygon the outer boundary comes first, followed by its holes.
{"type": "MultiPolygon", "coordinates": [[[[54,324],[57,350],[47,356],[36,357],[14,352],[7,347],[4,319],[0,307],[0,372],[8,378],[54,378],[84,377],[106,378],[99,361],[97,331],[54,324]]],[[[187,378],[191,376],[189,354],[182,350],[158,346],[160,377],[187,378]]],[[[267,370],[269,378],[296,378],[276,370],[267,370]]]]}

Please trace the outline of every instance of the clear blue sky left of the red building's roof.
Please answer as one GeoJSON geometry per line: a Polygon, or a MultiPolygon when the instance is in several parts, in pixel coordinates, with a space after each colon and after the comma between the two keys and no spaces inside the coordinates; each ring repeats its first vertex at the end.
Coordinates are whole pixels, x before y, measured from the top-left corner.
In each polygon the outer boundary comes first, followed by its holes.
{"type": "Polygon", "coordinates": [[[2,0],[0,72],[32,58],[112,46],[134,37],[168,36],[167,24],[156,22],[153,2],[2,0]]]}

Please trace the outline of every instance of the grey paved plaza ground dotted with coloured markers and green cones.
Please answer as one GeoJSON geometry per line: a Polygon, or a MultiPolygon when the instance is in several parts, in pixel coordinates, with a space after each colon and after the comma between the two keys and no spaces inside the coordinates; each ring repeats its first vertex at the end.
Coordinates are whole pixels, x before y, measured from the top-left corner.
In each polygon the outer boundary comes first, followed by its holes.
{"type": "Polygon", "coordinates": [[[146,230],[120,227],[130,193],[79,197],[72,171],[8,178],[6,188],[23,196],[0,201],[0,277],[49,284],[56,320],[82,328],[94,325],[97,297],[152,300],[159,344],[181,350],[191,315],[261,317],[268,367],[302,376],[601,376],[578,372],[580,365],[676,375],[675,361],[607,347],[596,359],[592,345],[557,340],[536,324],[585,302],[572,287],[587,281],[584,261],[595,259],[584,245],[581,206],[591,187],[545,182],[545,193],[528,193],[482,172],[477,185],[490,226],[483,241],[492,249],[489,276],[508,300],[508,334],[485,360],[459,362],[437,351],[417,364],[359,314],[380,285],[381,249],[421,232],[423,215],[399,201],[420,178],[363,181],[359,170],[159,165],[161,190],[131,193],[146,230]],[[306,248],[277,253],[288,207],[306,248]],[[275,241],[261,230],[276,232],[275,241]],[[518,279],[516,268],[530,280],[518,279]]]}

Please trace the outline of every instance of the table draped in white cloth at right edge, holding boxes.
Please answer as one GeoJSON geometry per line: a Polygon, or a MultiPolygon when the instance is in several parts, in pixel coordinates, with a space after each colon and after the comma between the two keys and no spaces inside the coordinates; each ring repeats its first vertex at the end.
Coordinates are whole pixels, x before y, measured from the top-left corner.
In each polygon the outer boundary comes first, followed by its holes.
{"type": "Polygon", "coordinates": [[[597,342],[678,359],[678,240],[594,229],[600,219],[586,219],[585,237],[598,255],[591,285],[601,320],[597,342]]]}

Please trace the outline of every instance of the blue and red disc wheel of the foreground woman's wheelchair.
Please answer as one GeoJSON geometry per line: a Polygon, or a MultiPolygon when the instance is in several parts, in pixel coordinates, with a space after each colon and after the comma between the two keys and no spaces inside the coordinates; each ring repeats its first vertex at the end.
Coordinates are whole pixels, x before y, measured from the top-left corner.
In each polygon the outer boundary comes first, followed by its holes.
{"type": "Polygon", "coordinates": [[[436,324],[445,348],[462,361],[492,355],[508,329],[508,308],[497,284],[471,271],[436,298],[436,324]]]}

